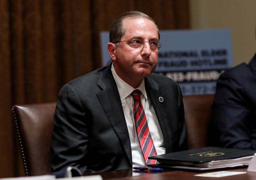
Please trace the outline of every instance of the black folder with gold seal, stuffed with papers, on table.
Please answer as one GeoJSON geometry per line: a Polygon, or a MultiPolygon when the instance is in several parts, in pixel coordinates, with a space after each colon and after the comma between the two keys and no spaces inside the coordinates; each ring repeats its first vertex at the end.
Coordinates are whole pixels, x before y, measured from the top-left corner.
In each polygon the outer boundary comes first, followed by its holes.
{"type": "Polygon", "coordinates": [[[159,164],[148,166],[196,171],[242,168],[249,165],[254,153],[256,153],[254,150],[203,147],[151,156],[148,159],[157,160],[159,164]]]}

